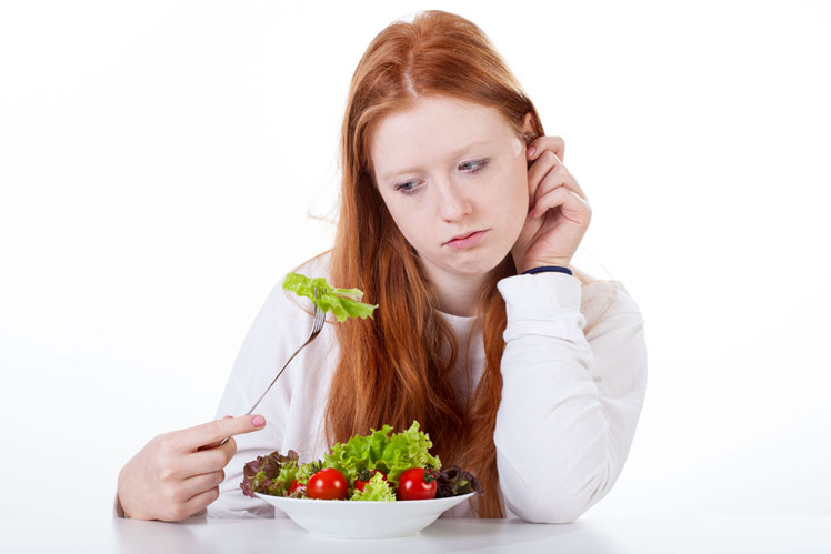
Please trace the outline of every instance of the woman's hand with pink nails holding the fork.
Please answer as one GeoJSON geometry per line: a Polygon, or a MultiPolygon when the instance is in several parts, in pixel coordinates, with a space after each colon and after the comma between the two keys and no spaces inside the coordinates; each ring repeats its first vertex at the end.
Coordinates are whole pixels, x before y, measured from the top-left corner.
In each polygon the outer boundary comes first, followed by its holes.
{"type": "Polygon", "coordinates": [[[261,415],[216,420],[152,439],[121,469],[118,498],[127,517],[177,522],[219,497],[233,435],[266,426],[261,415]],[[220,446],[224,437],[228,442],[220,446]]]}

